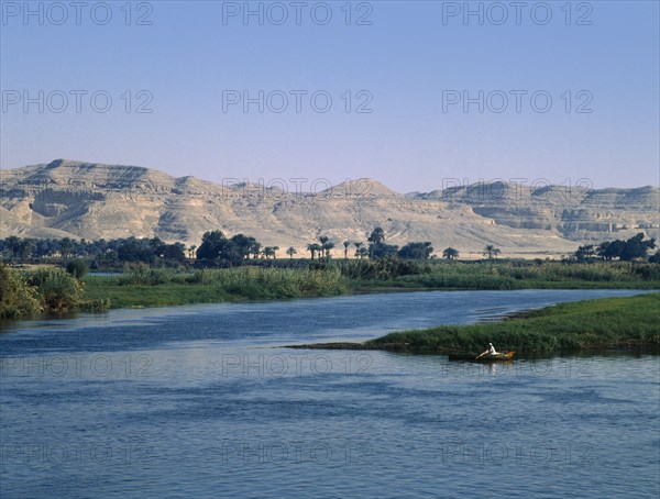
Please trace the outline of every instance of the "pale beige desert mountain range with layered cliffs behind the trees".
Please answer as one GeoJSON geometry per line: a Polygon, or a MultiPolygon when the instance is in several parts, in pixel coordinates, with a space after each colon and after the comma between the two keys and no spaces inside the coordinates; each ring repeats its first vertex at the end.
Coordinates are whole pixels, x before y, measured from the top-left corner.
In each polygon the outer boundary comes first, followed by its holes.
{"type": "MultiPolygon", "coordinates": [[[[175,178],[138,166],[56,159],[0,170],[0,237],[153,237],[199,245],[206,231],[253,235],[284,250],[319,235],[336,243],[430,241],[476,257],[493,244],[503,256],[560,256],[580,244],[660,234],[660,189],[587,189],[474,184],[429,192],[395,192],[370,178],[263,184],[175,178]]],[[[351,248],[351,253],[354,248],[351,248]]]]}

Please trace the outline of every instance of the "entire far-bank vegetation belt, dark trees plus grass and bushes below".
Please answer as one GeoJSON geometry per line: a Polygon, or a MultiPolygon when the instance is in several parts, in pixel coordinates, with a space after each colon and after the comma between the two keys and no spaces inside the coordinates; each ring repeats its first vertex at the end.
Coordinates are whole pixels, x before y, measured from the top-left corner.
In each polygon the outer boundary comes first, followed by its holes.
{"type": "Polygon", "coordinates": [[[562,262],[498,259],[501,251],[493,245],[484,247],[486,259],[459,262],[459,251],[453,247],[446,248],[444,258],[439,259],[430,242],[410,242],[402,248],[386,244],[380,226],[369,234],[367,243],[343,241],[344,257],[338,260],[331,258],[336,243],[328,235],[307,245],[309,259],[294,258],[295,247],[285,251],[288,258],[278,259],[279,247],[262,246],[244,234],[228,237],[221,231],[205,233],[199,247],[167,244],[157,237],[86,242],[10,236],[0,240],[4,260],[50,267],[36,273],[3,267],[0,318],[106,310],[110,304],[161,307],[386,288],[660,289],[660,257],[647,258],[654,240],[644,237],[640,233],[598,248],[581,246],[572,259],[562,262]],[[356,256],[352,259],[351,245],[356,256]],[[120,276],[87,276],[89,268],[122,267],[120,276]]]}

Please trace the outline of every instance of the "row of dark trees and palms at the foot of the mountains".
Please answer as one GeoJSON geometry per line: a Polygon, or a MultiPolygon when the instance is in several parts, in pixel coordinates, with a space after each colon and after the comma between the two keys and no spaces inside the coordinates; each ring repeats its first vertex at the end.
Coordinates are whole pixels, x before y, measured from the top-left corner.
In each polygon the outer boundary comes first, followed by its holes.
{"type": "MultiPolygon", "coordinates": [[[[564,258],[566,262],[594,263],[597,260],[619,262],[648,262],[660,263],[660,252],[648,255],[656,247],[656,240],[646,240],[646,234],[639,234],[628,240],[606,241],[598,246],[580,246],[574,254],[564,258]]],[[[355,258],[369,257],[372,260],[381,258],[399,258],[414,262],[426,262],[438,258],[430,242],[408,242],[402,248],[397,245],[385,243],[386,234],[383,228],[376,226],[369,235],[367,243],[356,241],[355,258]]],[[[310,260],[329,263],[331,251],[339,242],[332,241],[329,235],[319,235],[318,242],[307,245],[310,260]]],[[[350,241],[343,241],[344,260],[349,259],[350,241]]],[[[274,262],[277,259],[278,246],[263,246],[253,236],[235,234],[227,236],[222,231],[206,232],[201,237],[201,245],[176,242],[165,243],[158,237],[125,237],[117,240],[76,241],[69,237],[59,240],[51,239],[21,239],[9,236],[0,240],[0,258],[8,264],[55,264],[72,265],[70,259],[76,258],[94,270],[118,269],[127,264],[146,264],[153,267],[168,268],[224,268],[244,265],[260,265],[260,260],[274,262]]],[[[295,247],[286,250],[289,259],[297,254],[295,247]]],[[[488,260],[497,259],[501,250],[492,244],[484,246],[482,255],[488,260]]],[[[458,259],[460,252],[447,247],[442,257],[458,259]]],[[[76,260],[74,260],[76,262],[76,260]]],[[[78,265],[78,264],[77,264],[78,265]]],[[[81,269],[80,265],[69,273],[81,269]]],[[[84,275],[84,271],[82,271],[84,275]]],[[[75,275],[78,279],[80,274],[75,275]]]]}

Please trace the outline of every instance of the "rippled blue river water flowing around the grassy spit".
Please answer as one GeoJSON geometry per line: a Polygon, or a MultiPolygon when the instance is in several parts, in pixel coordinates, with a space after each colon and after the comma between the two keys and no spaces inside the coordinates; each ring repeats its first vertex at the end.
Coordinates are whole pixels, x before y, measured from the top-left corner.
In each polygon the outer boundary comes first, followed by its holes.
{"type": "Polygon", "coordinates": [[[280,348],[634,293],[429,291],[6,324],[0,497],[658,497],[658,356],[481,366],[280,348]]]}

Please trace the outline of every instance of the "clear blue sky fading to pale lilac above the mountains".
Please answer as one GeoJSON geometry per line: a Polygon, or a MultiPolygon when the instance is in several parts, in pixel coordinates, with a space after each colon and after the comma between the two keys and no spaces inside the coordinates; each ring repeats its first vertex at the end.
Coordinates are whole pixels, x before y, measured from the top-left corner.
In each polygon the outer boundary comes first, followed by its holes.
{"type": "Polygon", "coordinates": [[[29,9],[2,1],[1,168],[660,184],[657,1],[29,9]]]}

